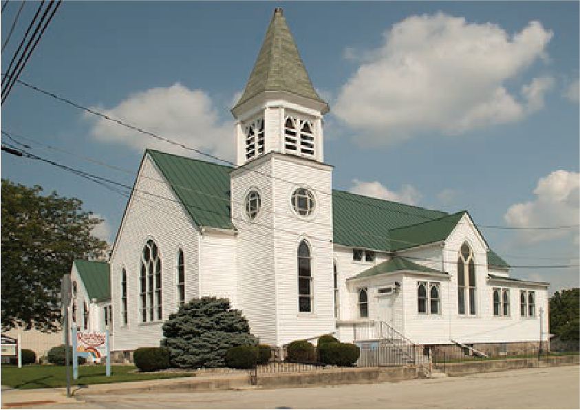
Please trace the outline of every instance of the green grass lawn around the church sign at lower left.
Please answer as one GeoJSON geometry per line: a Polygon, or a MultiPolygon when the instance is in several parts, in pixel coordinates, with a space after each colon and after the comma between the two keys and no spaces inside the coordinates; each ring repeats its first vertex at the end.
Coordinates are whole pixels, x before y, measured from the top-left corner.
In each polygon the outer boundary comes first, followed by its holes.
{"type": "MultiPolygon", "coordinates": [[[[134,366],[111,366],[111,376],[105,376],[105,366],[80,366],[78,379],[72,378],[70,385],[96,385],[100,383],[134,382],[137,380],[157,380],[162,378],[191,377],[192,373],[130,373],[134,366]]],[[[2,365],[1,382],[3,386],[15,389],[45,389],[49,387],[66,387],[64,366],[28,365],[19,369],[17,366],[2,365]]]]}

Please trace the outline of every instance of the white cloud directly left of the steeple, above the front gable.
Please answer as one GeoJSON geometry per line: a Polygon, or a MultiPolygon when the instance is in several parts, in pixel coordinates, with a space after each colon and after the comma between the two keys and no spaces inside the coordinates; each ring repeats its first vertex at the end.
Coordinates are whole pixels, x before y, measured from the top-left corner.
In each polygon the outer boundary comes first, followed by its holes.
{"type": "MultiPolygon", "coordinates": [[[[176,83],[132,94],[111,109],[94,108],[135,127],[231,160],[235,147],[233,121],[219,120],[211,98],[202,90],[190,90],[176,83]]],[[[93,117],[88,117],[93,119],[93,117]]],[[[195,155],[173,144],[160,141],[104,118],[96,118],[92,136],[103,142],[125,144],[138,151],[161,151],[195,155]]]]}

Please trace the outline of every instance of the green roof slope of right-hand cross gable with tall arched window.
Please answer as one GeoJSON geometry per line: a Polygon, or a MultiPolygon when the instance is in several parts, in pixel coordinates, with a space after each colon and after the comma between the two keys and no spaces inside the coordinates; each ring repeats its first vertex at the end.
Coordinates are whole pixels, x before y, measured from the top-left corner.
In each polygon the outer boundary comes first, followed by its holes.
{"type": "Polygon", "coordinates": [[[465,214],[466,211],[461,211],[419,224],[395,228],[389,233],[391,239],[389,250],[401,250],[444,241],[465,214]]]}

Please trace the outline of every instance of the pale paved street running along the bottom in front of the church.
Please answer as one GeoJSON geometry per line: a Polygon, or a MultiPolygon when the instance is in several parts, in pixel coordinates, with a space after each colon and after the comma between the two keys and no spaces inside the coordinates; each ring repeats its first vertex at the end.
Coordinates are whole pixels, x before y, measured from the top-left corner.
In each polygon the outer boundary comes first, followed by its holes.
{"type": "Polygon", "coordinates": [[[570,366],[376,385],[87,397],[67,409],[579,409],[579,386],[579,367],[570,366]]]}

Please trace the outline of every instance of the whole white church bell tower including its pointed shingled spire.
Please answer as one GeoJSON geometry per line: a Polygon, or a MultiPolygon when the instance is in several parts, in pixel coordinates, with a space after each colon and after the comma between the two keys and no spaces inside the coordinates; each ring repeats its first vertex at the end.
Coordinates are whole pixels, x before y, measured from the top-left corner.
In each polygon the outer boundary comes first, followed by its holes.
{"type": "Polygon", "coordinates": [[[239,308],[272,346],[335,330],[327,111],[277,8],[232,109],[237,167],[230,172],[239,308]]]}

